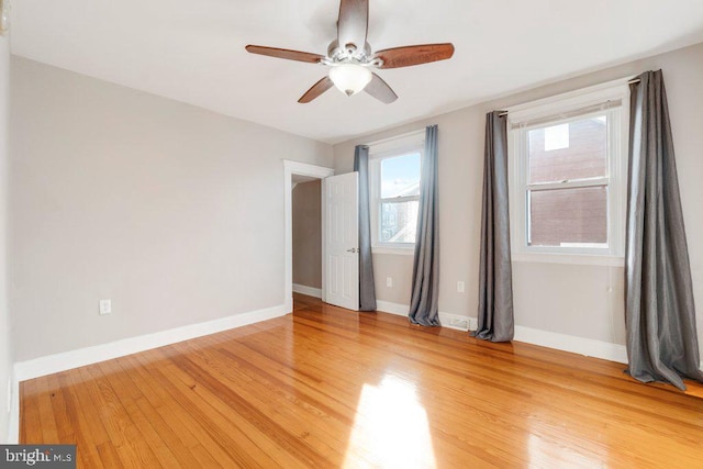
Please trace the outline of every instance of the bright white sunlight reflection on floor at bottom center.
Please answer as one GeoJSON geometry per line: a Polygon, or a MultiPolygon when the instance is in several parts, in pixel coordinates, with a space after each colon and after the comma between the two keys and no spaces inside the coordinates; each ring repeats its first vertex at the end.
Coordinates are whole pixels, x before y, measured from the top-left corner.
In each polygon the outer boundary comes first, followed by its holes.
{"type": "Polygon", "coordinates": [[[344,467],[434,468],[427,413],[415,384],[387,375],[379,386],[364,384],[344,467]]]}

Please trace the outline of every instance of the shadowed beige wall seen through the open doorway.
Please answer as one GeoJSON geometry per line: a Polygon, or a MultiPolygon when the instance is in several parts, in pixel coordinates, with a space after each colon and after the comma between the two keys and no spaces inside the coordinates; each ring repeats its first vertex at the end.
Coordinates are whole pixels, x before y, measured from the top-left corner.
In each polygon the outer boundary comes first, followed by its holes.
{"type": "Polygon", "coordinates": [[[322,288],[322,209],[320,180],[292,193],[293,283],[322,288]]]}

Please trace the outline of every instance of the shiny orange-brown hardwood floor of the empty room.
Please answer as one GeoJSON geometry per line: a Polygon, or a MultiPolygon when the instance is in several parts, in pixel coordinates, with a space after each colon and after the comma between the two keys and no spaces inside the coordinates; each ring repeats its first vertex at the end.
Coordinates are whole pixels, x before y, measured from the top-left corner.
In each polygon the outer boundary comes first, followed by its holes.
{"type": "Polygon", "coordinates": [[[297,295],[293,314],[21,383],[100,467],[701,467],[703,387],[297,295]]]}

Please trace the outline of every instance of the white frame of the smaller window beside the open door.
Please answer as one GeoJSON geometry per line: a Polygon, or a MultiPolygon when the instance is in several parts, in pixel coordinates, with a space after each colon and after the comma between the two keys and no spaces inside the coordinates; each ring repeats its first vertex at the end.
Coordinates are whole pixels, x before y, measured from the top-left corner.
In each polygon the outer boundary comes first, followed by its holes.
{"type": "MultiPolygon", "coordinates": [[[[381,206],[383,202],[406,202],[417,200],[420,194],[392,199],[381,198],[381,161],[399,156],[420,154],[421,181],[422,161],[425,152],[425,131],[412,132],[368,145],[369,147],[369,212],[371,221],[371,252],[376,254],[412,255],[415,243],[390,243],[380,241],[381,206]]],[[[422,182],[421,182],[422,183],[422,182]]]]}

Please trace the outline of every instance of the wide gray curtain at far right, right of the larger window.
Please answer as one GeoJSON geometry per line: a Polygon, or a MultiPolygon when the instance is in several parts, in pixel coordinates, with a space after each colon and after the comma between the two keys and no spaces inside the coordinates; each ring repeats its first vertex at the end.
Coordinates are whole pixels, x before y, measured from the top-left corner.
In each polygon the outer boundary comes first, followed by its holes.
{"type": "Polygon", "coordinates": [[[631,85],[625,253],[628,372],[643,382],[703,381],[689,250],[661,70],[631,85]]]}

